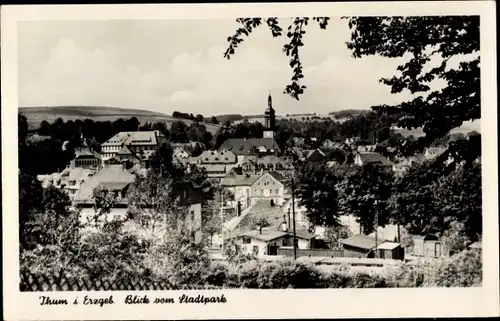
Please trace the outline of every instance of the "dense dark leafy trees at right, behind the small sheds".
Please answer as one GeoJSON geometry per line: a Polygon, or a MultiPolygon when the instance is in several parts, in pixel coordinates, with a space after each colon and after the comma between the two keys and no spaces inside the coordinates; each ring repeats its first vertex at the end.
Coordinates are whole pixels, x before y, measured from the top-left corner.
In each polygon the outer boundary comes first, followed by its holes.
{"type": "MultiPolygon", "coordinates": [[[[413,164],[404,175],[374,165],[300,164],[295,195],[311,223],[340,228],[342,215],[353,215],[360,233],[398,225],[413,235],[443,236],[459,224],[469,242],[482,235],[481,163],[445,157],[413,164]]],[[[461,250],[467,244],[461,245],[461,250]]]]}

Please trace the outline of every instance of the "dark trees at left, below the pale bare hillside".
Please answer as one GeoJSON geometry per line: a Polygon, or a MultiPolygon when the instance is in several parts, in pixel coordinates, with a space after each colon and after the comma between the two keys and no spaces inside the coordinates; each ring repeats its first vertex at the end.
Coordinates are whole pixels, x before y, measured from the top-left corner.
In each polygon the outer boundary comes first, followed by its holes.
{"type": "Polygon", "coordinates": [[[45,120],[40,123],[38,134],[42,139],[29,136],[26,116],[18,115],[18,126],[19,168],[30,175],[50,174],[64,169],[74,158],[74,148],[82,145],[82,137],[96,152],[100,152],[100,145],[117,133],[138,130],[158,130],[173,143],[197,141],[206,148],[213,146],[213,136],[204,124],[193,122],[188,126],[180,120],[167,128],[164,122],[140,124],[136,117],[115,121],[64,121],[57,118],[53,123],[45,120]],[[36,162],[33,161],[35,159],[36,162]]]}

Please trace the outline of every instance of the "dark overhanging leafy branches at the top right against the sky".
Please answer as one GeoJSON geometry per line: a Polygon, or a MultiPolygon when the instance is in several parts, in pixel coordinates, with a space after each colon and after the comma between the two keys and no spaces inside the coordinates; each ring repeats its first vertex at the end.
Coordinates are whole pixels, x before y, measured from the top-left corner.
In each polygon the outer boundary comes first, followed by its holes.
{"type": "MultiPolygon", "coordinates": [[[[329,18],[312,18],[326,28],[329,18]]],[[[464,121],[481,117],[480,109],[480,58],[478,16],[419,16],[419,17],[344,17],[351,29],[351,40],[346,43],[354,58],[380,55],[388,58],[410,57],[397,68],[397,75],[380,79],[391,87],[392,93],[407,90],[420,94],[398,105],[373,106],[375,111],[386,114],[402,128],[422,127],[424,137],[417,140],[412,150],[429,146],[436,138],[446,135],[464,121]],[[474,56],[470,58],[470,56],[474,56]],[[457,57],[458,67],[449,68],[450,59],[457,57]],[[432,59],[441,61],[437,67],[426,69],[432,59]],[[431,82],[441,80],[446,85],[431,89],[431,82]],[[425,95],[424,95],[425,94],[425,95]]],[[[300,85],[304,78],[300,48],[309,18],[294,18],[286,36],[290,42],[283,52],[290,57],[293,70],[291,84],[285,93],[295,99],[304,93],[300,85]]],[[[255,28],[265,22],[273,37],[283,35],[277,18],[240,18],[242,26],[228,38],[229,46],[224,57],[230,58],[235,49],[255,28]]]]}

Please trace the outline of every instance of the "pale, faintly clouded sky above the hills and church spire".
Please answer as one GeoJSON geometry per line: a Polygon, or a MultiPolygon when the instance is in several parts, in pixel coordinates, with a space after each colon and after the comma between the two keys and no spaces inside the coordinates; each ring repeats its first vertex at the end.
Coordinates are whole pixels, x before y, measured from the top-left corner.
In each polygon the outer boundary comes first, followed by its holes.
{"type": "MultiPolygon", "coordinates": [[[[286,30],[289,21],[280,20],[286,30]]],[[[203,115],[261,114],[267,95],[277,114],[368,109],[395,104],[380,84],[392,77],[398,59],[353,58],[346,20],[326,30],[307,26],[301,59],[299,101],[283,94],[292,70],[282,52],[286,37],[266,26],[254,31],[227,60],[227,38],[235,20],[108,20],[20,22],[19,105],[111,106],[203,115]]]]}

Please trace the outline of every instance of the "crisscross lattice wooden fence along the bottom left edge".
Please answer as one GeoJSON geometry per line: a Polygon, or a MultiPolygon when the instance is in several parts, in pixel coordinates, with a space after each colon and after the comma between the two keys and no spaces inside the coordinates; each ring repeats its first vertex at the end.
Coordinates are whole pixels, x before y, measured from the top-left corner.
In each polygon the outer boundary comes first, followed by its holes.
{"type": "Polygon", "coordinates": [[[175,285],[143,279],[109,280],[21,272],[21,292],[45,291],[154,291],[154,290],[217,290],[216,286],[175,285]]]}

